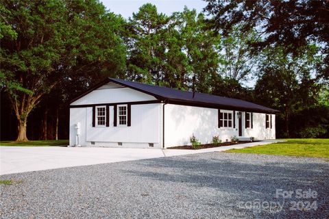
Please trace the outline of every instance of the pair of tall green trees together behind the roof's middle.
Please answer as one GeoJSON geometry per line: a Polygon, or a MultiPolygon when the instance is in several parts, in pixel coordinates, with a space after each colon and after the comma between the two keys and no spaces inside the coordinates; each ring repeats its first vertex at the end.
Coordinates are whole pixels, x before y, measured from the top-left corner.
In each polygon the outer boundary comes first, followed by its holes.
{"type": "Polygon", "coordinates": [[[219,62],[219,36],[206,29],[203,14],[184,8],[165,16],[147,3],[133,14],[128,27],[130,79],[210,92],[210,75],[217,73],[219,62]]]}

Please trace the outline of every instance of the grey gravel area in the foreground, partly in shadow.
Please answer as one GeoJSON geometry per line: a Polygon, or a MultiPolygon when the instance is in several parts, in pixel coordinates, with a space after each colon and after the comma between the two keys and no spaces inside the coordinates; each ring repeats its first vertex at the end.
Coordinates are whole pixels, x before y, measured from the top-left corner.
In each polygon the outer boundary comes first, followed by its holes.
{"type": "Polygon", "coordinates": [[[13,181],[0,185],[0,218],[329,218],[328,159],[200,153],[0,179],[13,181]]]}

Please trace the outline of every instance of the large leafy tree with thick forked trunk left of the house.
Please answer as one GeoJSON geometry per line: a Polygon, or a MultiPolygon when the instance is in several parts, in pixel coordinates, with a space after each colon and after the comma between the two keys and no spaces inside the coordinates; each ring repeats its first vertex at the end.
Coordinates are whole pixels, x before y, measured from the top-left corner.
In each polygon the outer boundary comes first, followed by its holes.
{"type": "Polygon", "coordinates": [[[1,86],[19,123],[17,141],[27,141],[30,112],[58,81],[123,71],[121,19],[98,1],[4,1],[1,18],[1,29],[16,33],[2,34],[0,61],[1,86]]]}

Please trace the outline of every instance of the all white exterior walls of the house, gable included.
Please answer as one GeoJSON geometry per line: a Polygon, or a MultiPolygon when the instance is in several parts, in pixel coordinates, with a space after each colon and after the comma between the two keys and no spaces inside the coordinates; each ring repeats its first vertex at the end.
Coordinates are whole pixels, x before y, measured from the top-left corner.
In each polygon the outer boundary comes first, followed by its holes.
{"type": "MultiPolygon", "coordinates": [[[[136,101],[154,101],[154,96],[131,88],[108,88],[93,90],[71,105],[111,104],[136,101]]],[[[80,144],[82,146],[114,147],[162,147],[162,106],[163,103],[131,105],[131,126],[114,127],[114,107],[110,105],[110,126],[93,127],[93,108],[72,107],[70,109],[70,145],[75,145],[75,124],[80,123],[80,144]],[[91,144],[95,142],[95,144],[91,144]],[[122,142],[122,146],[118,145],[122,142]]],[[[185,105],[166,104],[164,115],[165,147],[191,144],[194,136],[203,144],[211,143],[212,136],[219,136],[222,142],[230,141],[232,136],[239,137],[237,112],[234,128],[218,128],[218,110],[185,105]]],[[[227,110],[226,110],[227,111],[227,110]]],[[[229,111],[233,112],[233,111],[229,111]]],[[[265,129],[265,114],[253,113],[253,129],[245,129],[245,113],[242,118],[242,136],[256,140],[276,138],[275,115],[272,116],[272,129],[265,129]]]]}

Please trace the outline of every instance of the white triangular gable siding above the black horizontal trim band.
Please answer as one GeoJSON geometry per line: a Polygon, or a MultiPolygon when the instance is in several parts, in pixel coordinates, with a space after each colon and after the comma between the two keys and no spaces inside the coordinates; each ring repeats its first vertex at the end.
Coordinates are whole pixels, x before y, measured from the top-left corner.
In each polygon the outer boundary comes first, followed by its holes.
{"type": "Polygon", "coordinates": [[[131,88],[112,88],[93,90],[86,96],[77,99],[71,105],[97,104],[97,103],[122,103],[136,101],[154,101],[156,98],[149,94],[131,88]]]}

